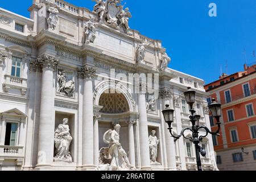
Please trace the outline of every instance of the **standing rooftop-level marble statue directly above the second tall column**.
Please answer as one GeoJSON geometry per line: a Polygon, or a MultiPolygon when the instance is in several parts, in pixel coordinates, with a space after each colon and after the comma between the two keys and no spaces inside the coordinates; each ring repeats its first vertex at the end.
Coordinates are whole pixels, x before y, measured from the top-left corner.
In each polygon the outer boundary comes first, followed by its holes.
{"type": "Polygon", "coordinates": [[[90,19],[87,23],[85,23],[85,30],[84,30],[84,43],[94,43],[96,39],[96,26],[98,24],[94,23],[92,19],[90,19]]]}

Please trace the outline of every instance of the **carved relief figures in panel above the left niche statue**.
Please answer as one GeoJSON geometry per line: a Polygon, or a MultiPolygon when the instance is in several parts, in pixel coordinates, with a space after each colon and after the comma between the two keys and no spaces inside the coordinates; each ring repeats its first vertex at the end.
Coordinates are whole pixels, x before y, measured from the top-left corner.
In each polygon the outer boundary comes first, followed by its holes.
{"type": "Polygon", "coordinates": [[[65,73],[65,71],[60,71],[57,75],[57,82],[59,84],[58,92],[65,96],[73,97],[73,94],[75,93],[75,82],[73,80],[67,82],[65,73]]]}

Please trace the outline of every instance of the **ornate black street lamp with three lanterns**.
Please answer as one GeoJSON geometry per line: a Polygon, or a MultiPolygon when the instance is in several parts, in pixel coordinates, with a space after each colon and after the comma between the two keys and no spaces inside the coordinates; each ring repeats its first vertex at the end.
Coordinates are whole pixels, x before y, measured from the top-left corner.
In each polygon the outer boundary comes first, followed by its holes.
{"type": "Polygon", "coordinates": [[[168,130],[171,133],[171,136],[174,137],[174,141],[176,142],[177,139],[179,139],[181,136],[183,136],[185,139],[189,139],[191,142],[195,144],[196,148],[196,163],[197,163],[197,169],[198,171],[202,171],[202,166],[201,166],[201,159],[200,159],[200,154],[202,156],[206,155],[206,151],[204,148],[199,146],[199,143],[203,140],[203,138],[207,137],[208,134],[212,135],[218,135],[220,136],[220,117],[221,117],[221,104],[218,104],[215,99],[212,99],[212,104],[210,104],[209,110],[212,113],[212,116],[216,118],[217,120],[217,125],[218,125],[218,130],[215,132],[212,132],[208,129],[206,126],[200,126],[200,115],[195,115],[196,111],[193,109],[193,104],[195,103],[195,96],[196,92],[191,90],[190,87],[188,87],[188,90],[184,92],[185,100],[187,101],[187,104],[190,106],[190,112],[191,115],[189,116],[190,122],[192,123],[192,128],[185,128],[181,130],[180,135],[175,136],[172,134],[172,122],[174,122],[174,109],[170,109],[169,105],[166,105],[166,109],[162,111],[164,120],[168,124],[168,130]],[[204,129],[206,131],[206,134],[203,136],[199,136],[199,130],[204,129]],[[192,137],[185,137],[184,131],[189,130],[192,132],[192,137]]]}

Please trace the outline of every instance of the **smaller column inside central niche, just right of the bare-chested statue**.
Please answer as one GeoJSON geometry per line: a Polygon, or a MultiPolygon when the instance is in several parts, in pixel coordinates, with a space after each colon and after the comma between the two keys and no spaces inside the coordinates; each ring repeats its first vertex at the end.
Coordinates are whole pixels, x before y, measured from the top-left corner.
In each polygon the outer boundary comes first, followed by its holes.
{"type": "Polygon", "coordinates": [[[134,145],[133,125],[136,122],[137,122],[136,119],[126,122],[128,124],[128,135],[129,135],[129,160],[132,166],[135,166],[135,145],[134,145]]]}

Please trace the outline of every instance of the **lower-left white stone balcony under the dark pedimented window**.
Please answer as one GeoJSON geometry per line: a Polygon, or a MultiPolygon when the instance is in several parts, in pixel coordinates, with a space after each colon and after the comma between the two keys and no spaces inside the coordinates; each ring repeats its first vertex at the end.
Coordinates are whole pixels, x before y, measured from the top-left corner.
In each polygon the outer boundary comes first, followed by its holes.
{"type": "Polygon", "coordinates": [[[16,161],[17,166],[22,166],[24,154],[22,146],[0,146],[0,166],[4,160],[11,159],[16,161]]]}

